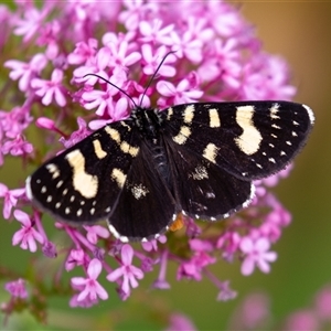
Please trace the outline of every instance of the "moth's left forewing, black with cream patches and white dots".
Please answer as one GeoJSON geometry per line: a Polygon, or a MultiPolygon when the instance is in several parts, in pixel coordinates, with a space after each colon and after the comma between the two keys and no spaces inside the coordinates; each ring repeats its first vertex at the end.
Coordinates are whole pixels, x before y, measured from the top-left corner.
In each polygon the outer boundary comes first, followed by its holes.
{"type": "Polygon", "coordinates": [[[105,126],[28,178],[28,197],[62,221],[105,218],[116,206],[121,180],[139,154],[139,139],[125,121],[105,126]]]}

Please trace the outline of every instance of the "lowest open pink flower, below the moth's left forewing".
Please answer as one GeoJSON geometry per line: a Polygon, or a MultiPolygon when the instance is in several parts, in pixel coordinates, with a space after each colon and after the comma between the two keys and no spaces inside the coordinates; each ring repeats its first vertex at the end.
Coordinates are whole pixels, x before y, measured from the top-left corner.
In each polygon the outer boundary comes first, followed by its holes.
{"type": "Polygon", "coordinates": [[[90,260],[87,268],[87,278],[84,277],[73,277],[71,282],[74,288],[79,288],[82,291],[77,297],[77,301],[92,300],[95,301],[97,298],[102,300],[108,299],[107,291],[103,286],[96,280],[100,275],[103,269],[102,263],[94,258],[90,260]]]}

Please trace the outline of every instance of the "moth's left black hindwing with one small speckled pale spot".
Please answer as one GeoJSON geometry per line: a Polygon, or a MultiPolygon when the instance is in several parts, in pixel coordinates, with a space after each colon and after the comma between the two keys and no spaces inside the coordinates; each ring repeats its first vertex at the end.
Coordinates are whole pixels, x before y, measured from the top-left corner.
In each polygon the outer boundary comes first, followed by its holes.
{"type": "Polygon", "coordinates": [[[177,213],[175,200],[158,171],[152,149],[142,141],[108,217],[110,232],[122,242],[156,238],[168,229],[177,213]]]}

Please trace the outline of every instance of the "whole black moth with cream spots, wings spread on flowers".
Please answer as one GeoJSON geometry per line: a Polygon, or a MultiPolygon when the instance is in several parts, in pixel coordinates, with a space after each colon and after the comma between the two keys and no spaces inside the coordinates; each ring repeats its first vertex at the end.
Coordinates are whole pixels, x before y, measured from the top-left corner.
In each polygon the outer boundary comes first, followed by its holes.
{"type": "Polygon", "coordinates": [[[313,120],[289,102],[138,107],[46,161],[26,194],[62,221],[107,218],[122,242],[154,238],[179,213],[215,221],[247,206],[252,181],[284,169],[313,120]]]}

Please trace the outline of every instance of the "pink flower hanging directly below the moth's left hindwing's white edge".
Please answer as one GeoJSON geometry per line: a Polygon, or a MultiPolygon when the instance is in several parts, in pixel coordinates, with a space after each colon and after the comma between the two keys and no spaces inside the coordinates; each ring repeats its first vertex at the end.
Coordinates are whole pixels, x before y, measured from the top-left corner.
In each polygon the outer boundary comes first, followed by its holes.
{"type": "Polygon", "coordinates": [[[120,289],[127,295],[130,295],[130,286],[132,288],[138,287],[137,279],[142,279],[143,273],[141,269],[132,265],[134,249],[130,245],[126,244],[121,247],[121,267],[111,271],[107,279],[109,281],[116,281],[122,277],[120,289]]]}

